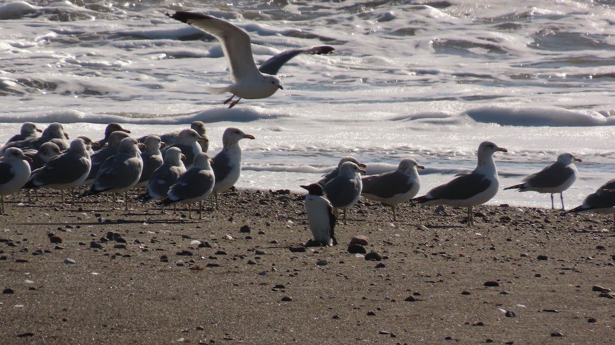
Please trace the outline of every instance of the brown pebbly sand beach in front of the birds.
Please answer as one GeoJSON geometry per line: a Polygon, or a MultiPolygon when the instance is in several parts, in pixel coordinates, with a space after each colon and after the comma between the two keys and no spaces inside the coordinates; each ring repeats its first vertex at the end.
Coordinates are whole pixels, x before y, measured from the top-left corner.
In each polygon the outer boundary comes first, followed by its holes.
{"type": "Polygon", "coordinates": [[[404,204],[391,222],[362,200],[338,246],[291,252],[311,238],[296,198],[230,192],[200,221],[5,198],[0,343],[615,343],[614,295],[595,291],[615,289],[610,216],[482,206],[469,229],[464,209],[404,204]],[[355,235],[383,260],[347,252],[355,235]]]}

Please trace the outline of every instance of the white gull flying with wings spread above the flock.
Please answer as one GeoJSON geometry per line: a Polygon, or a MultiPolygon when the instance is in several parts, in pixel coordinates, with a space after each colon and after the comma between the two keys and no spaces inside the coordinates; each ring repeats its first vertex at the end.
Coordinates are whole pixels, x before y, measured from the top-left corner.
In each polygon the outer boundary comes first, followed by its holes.
{"type": "Polygon", "coordinates": [[[167,16],[205,31],[205,33],[211,34],[220,41],[224,56],[226,56],[229,62],[233,83],[226,87],[210,87],[207,90],[215,94],[232,93],[232,96],[226,99],[224,104],[229,103],[235,96],[238,96],[239,99],[233,101],[229,108],[239,103],[242,98],[267,98],[276,93],[278,89],[284,90],[282,85],[280,85],[280,78],[275,76],[275,74],[294,56],[300,53],[324,54],[335,52],[335,49],[327,46],[287,50],[265,61],[261,68],[257,69],[252,56],[252,47],[250,47],[250,36],[244,30],[232,25],[228,21],[209,17],[208,15],[175,12],[175,14],[167,14],[167,16]]]}

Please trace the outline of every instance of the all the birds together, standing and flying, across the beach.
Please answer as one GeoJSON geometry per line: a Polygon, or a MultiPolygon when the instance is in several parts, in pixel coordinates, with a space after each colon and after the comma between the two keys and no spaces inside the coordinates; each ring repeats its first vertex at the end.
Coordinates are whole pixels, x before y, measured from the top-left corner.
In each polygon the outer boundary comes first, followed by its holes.
{"type": "MultiPolygon", "coordinates": [[[[224,101],[224,104],[230,103],[229,108],[242,98],[267,98],[277,90],[283,90],[276,74],[293,57],[335,53],[335,49],[329,46],[295,48],[273,56],[257,68],[250,37],[237,26],[191,12],[167,16],[220,41],[229,63],[232,83],[207,90],[215,94],[231,93],[231,97],[224,101]],[[235,97],[237,99],[233,101],[235,97]]],[[[240,177],[242,152],[239,141],[255,139],[237,128],[227,128],[223,134],[223,149],[210,158],[205,125],[200,121],[193,122],[191,128],[172,133],[141,138],[129,134],[130,131],[121,125],[109,123],[105,137],[99,141],[79,136],[68,142],[68,134],[61,123],[51,123],[44,131],[34,123],[24,123],[21,133],[0,148],[0,213],[4,214],[4,196],[20,188],[70,189],[74,203],[72,188],[89,185],[89,189],[78,198],[113,193],[115,204],[115,193],[124,193],[128,209],[128,191],[146,187],[146,192],[137,197],[143,203],[157,201],[160,206],[167,207],[198,202],[201,219],[202,200],[213,194],[217,208],[218,193],[231,188],[240,177]],[[39,132],[42,132],[41,136],[39,132]]],[[[390,205],[393,220],[397,220],[396,205],[408,201],[467,207],[467,225],[471,227],[474,225],[473,207],[486,203],[498,192],[498,171],[493,160],[496,152],[507,150],[491,141],[482,142],[478,146],[478,164],[474,171],[459,174],[450,182],[418,197],[421,184],[418,169],[424,169],[424,166],[413,158],[404,158],[395,171],[362,177],[365,165],[353,157],[344,157],[338,168],[321,180],[301,186],[308,190],[305,206],[314,236],[311,243],[319,246],[336,244],[337,212],[344,212],[343,222],[346,224],[346,209],[360,196],[390,205]]],[[[562,153],[554,164],[526,177],[522,183],[504,189],[550,193],[552,208],[555,208],[554,193],[560,193],[563,210],[562,193],[576,180],[575,161],[581,160],[571,153],[562,153]]],[[[63,192],[62,199],[64,202],[63,192]]],[[[192,218],[190,207],[188,209],[192,218]]],[[[585,211],[614,214],[615,217],[615,179],[587,196],[581,206],[568,212],[585,211]]]]}

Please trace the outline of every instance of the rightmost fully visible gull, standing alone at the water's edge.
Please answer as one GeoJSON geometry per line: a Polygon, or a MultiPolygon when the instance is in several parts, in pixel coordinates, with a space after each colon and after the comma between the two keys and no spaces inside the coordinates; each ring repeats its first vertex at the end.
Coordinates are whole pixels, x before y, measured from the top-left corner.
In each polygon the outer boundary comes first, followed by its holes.
{"type": "Polygon", "coordinates": [[[555,209],[554,193],[560,193],[561,211],[564,211],[563,192],[576,180],[575,161],[581,161],[581,158],[574,157],[572,153],[561,153],[552,165],[525,177],[522,184],[506,187],[504,190],[516,188],[518,192],[534,190],[538,193],[551,193],[551,209],[555,209]]]}

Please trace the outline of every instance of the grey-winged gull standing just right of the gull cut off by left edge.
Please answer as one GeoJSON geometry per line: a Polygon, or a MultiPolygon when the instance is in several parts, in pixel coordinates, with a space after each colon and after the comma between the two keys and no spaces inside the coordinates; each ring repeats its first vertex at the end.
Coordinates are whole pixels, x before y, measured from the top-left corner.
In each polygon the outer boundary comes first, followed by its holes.
{"type": "Polygon", "coordinates": [[[72,188],[84,182],[91,167],[90,153],[87,152],[83,139],[77,138],[71,142],[68,152],[52,158],[42,168],[34,170],[23,188],[45,187],[61,190],[62,203],[66,203],[64,190],[70,188],[74,204],[75,197],[72,188]]]}

